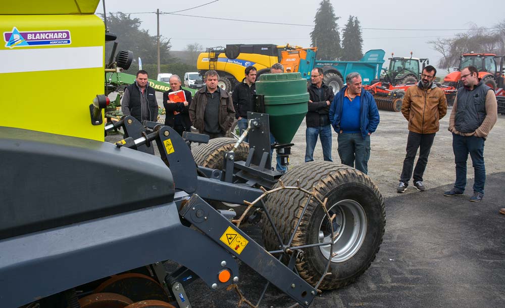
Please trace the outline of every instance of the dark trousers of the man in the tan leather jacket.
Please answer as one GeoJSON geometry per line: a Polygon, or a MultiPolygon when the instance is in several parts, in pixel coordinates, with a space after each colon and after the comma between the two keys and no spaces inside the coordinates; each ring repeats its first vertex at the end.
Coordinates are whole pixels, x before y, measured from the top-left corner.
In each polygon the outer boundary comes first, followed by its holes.
{"type": "Polygon", "coordinates": [[[401,169],[400,181],[409,183],[412,177],[412,168],[414,167],[414,159],[416,158],[417,150],[419,149],[419,158],[417,159],[416,168],[414,169],[414,183],[423,181],[424,170],[428,163],[428,155],[430,155],[431,146],[435,139],[433,134],[418,134],[409,131],[407,138],[407,155],[403,160],[403,168],[401,169]]]}

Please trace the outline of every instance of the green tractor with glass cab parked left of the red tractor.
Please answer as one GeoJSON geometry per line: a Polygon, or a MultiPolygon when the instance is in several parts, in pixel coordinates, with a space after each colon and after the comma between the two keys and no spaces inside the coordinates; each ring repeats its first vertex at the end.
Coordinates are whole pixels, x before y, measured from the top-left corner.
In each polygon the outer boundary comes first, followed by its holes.
{"type": "Polygon", "coordinates": [[[424,67],[430,64],[428,59],[412,58],[412,52],[410,58],[393,56],[394,54],[391,53],[391,58],[388,59],[389,68],[384,70],[381,76],[381,81],[389,82],[392,85],[417,82],[424,67]],[[423,66],[421,69],[419,68],[420,63],[423,66]]]}

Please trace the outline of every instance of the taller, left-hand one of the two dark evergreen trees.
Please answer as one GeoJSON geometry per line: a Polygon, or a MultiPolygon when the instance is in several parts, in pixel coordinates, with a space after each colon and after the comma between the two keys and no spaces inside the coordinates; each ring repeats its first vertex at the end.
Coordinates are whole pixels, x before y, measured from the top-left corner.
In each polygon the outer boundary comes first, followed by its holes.
{"type": "Polygon", "coordinates": [[[314,30],[311,32],[312,47],[317,47],[319,60],[335,60],[341,56],[340,34],[333,6],[323,0],[314,17],[314,30]]]}

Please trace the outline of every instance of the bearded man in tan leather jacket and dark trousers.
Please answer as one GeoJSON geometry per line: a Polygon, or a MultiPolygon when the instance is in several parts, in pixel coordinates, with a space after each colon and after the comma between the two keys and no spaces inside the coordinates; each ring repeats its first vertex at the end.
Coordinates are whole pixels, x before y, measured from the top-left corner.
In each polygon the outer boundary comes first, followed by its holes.
{"type": "Polygon", "coordinates": [[[440,124],[439,120],[447,113],[447,101],[443,91],[433,82],[437,70],[428,65],[423,69],[421,80],[409,87],[403,97],[401,113],[409,121],[407,155],[403,160],[400,183],[396,191],[403,193],[412,177],[414,159],[419,149],[419,158],[414,169],[414,187],[424,191],[423,174],[428,163],[431,146],[440,124]]]}

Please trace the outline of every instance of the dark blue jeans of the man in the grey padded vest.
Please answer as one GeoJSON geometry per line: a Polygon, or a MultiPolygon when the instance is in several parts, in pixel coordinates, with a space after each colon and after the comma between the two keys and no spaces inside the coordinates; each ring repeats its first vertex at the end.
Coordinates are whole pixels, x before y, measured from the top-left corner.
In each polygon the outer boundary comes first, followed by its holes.
{"type": "Polygon", "coordinates": [[[474,192],[484,193],[484,184],[486,183],[484,138],[464,137],[452,133],[452,151],[456,163],[456,183],[454,187],[462,192],[465,191],[467,186],[467,160],[468,154],[470,154],[475,174],[474,192]]]}

